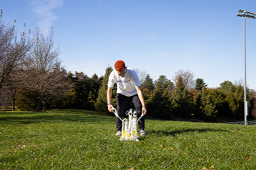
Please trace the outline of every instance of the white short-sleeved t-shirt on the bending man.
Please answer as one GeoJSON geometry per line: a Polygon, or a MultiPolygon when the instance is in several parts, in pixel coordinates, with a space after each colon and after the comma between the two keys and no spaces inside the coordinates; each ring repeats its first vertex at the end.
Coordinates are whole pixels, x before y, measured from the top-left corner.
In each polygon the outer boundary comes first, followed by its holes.
{"type": "Polygon", "coordinates": [[[133,68],[128,67],[125,77],[121,77],[114,69],[108,78],[108,87],[113,88],[114,84],[117,84],[117,94],[123,94],[125,96],[133,96],[137,94],[135,86],[141,85],[140,79],[133,68]]]}

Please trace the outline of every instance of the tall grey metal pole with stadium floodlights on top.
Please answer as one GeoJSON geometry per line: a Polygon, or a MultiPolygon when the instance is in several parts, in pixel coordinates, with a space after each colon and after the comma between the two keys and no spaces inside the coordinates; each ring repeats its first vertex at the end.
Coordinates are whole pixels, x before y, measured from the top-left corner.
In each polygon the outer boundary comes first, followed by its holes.
{"type": "Polygon", "coordinates": [[[251,11],[244,11],[239,9],[238,12],[241,14],[237,14],[238,17],[244,17],[244,125],[247,125],[247,116],[248,116],[248,102],[246,100],[246,52],[245,52],[245,18],[251,18],[253,20],[256,19],[256,13],[251,11]]]}

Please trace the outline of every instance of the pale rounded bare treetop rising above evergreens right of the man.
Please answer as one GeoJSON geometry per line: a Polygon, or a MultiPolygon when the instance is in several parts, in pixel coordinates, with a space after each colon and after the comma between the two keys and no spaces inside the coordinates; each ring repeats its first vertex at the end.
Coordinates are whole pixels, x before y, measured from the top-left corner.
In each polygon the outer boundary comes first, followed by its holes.
{"type": "Polygon", "coordinates": [[[179,76],[182,78],[183,83],[187,89],[195,87],[194,72],[190,71],[190,69],[188,69],[187,71],[185,71],[184,69],[180,69],[175,72],[174,76],[172,77],[175,85],[177,84],[179,76]]]}

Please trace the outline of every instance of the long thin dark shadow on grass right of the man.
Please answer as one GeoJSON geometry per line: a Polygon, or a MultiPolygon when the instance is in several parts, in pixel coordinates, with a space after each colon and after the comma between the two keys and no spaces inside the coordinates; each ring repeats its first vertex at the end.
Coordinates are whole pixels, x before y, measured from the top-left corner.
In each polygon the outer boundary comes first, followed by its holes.
{"type": "Polygon", "coordinates": [[[147,133],[150,133],[152,136],[172,136],[175,137],[181,133],[206,133],[206,132],[228,132],[228,130],[222,129],[212,129],[212,128],[187,128],[180,130],[148,130],[147,133]]]}

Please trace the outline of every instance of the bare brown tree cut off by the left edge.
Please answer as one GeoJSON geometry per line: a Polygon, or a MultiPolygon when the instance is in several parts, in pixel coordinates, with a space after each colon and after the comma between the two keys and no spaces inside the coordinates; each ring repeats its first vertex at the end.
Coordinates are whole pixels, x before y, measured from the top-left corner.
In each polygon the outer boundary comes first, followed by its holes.
{"type": "Polygon", "coordinates": [[[22,67],[26,53],[29,50],[29,39],[25,31],[21,34],[20,41],[17,40],[16,28],[2,21],[2,10],[0,15],[0,90],[6,77],[22,67]]]}

